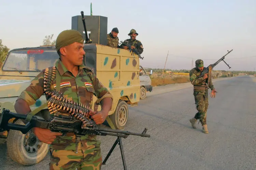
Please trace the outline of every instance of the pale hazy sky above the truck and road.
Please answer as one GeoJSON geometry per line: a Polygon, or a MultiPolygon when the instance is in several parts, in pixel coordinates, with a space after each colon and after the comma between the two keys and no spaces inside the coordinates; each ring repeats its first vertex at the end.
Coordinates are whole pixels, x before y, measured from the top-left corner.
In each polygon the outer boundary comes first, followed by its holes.
{"type": "Polygon", "coordinates": [[[71,29],[71,17],[108,17],[108,33],[119,40],[131,29],[144,47],[140,65],[147,68],[191,69],[202,59],[215,63],[233,49],[214,70],[256,71],[255,0],[0,0],[0,39],[10,49],[37,47],[46,35],[71,29]],[[169,53],[168,53],[169,51],[169,53]]]}

